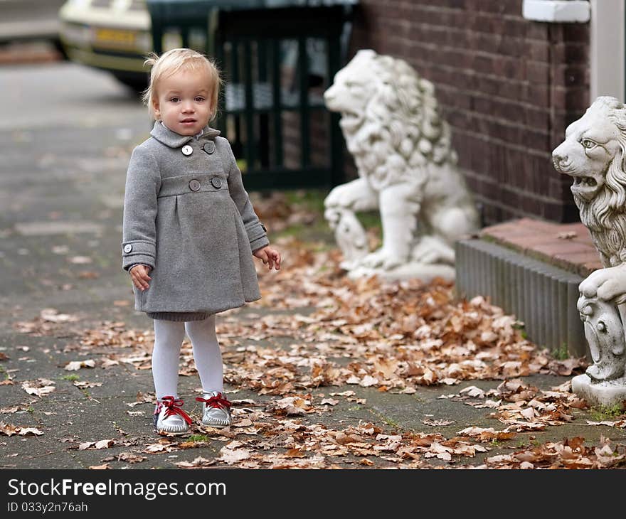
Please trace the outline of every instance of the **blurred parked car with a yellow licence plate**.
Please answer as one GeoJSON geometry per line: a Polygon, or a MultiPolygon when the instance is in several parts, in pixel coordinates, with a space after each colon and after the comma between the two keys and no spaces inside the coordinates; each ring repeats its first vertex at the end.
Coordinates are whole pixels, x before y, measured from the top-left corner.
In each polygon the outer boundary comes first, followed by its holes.
{"type": "Polygon", "coordinates": [[[70,60],[107,70],[134,90],[147,86],[152,33],[145,0],[67,0],[58,18],[70,60]]]}

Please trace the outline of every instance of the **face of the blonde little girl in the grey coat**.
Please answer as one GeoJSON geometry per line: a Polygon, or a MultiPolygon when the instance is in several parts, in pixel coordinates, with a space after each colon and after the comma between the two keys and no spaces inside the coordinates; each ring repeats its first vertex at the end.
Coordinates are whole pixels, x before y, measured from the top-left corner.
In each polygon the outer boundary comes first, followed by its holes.
{"type": "Polygon", "coordinates": [[[180,135],[196,135],[213,114],[211,84],[204,70],[179,70],[157,85],[154,115],[180,135]]]}

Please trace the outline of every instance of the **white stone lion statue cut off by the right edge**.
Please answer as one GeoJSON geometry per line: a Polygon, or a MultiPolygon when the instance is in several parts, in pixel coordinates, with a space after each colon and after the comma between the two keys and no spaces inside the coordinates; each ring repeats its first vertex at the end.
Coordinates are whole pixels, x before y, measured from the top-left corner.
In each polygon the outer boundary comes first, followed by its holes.
{"type": "MultiPolygon", "coordinates": [[[[626,398],[625,151],[626,106],[615,97],[598,97],[583,117],[568,126],[566,139],[552,152],[556,170],[573,178],[571,191],[580,210],[580,220],[589,229],[605,266],[592,272],[579,287],[578,311],[593,360],[586,376],[591,383],[611,382],[614,389],[623,380],[623,398],[626,398]]],[[[575,391],[576,379],[572,381],[575,391]]],[[[583,382],[578,380],[578,385],[583,382]]]]}

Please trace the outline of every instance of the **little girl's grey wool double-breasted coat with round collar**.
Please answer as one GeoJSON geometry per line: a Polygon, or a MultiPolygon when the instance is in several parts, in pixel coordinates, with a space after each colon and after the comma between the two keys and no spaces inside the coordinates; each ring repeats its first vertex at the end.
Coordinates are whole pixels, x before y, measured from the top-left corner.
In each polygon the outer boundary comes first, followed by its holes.
{"type": "Polygon", "coordinates": [[[252,252],[269,243],[230,144],[205,127],[185,137],[156,122],[129,162],[122,267],[152,267],[135,309],[193,321],[260,298],[252,252]],[[191,146],[191,154],[189,154],[191,146]]]}

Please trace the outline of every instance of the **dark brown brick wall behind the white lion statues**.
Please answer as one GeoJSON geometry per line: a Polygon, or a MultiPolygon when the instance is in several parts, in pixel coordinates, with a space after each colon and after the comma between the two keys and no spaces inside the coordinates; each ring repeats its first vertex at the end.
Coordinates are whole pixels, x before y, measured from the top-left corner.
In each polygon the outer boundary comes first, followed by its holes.
{"type": "Polygon", "coordinates": [[[361,0],[352,54],[403,58],[432,81],[485,224],[578,220],[551,150],[589,105],[588,24],[521,16],[521,0],[361,0]]]}

